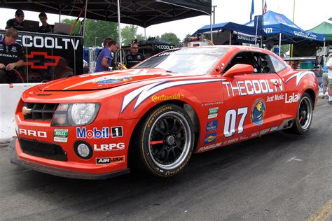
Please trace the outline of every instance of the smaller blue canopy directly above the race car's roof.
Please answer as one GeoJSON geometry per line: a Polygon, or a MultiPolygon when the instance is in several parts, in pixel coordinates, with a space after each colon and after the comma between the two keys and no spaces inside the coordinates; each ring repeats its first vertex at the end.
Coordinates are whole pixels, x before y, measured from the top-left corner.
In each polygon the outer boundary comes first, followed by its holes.
{"type": "MultiPolygon", "coordinates": [[[[210,24],[205,25],[195,31],[191,36],[196,34],[204,34],[211,31],[210,24]]],[[[212,24],[212,31],[229,31],[229,44],[231,44],[232,34],[236,34],[237,41],[242,43],[252,43],[256,42],[256,30],[254,27],[249,27],[243,24],[237,24],[233,22],[224,22],[219,24],[212,24]]]]}

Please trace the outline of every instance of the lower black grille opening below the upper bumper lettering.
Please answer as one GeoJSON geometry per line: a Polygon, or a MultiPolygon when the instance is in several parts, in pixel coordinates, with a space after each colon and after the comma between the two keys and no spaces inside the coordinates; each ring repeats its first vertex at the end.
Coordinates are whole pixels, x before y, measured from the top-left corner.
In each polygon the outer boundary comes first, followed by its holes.
{"type": "Polygon", "coordinates": [[[62,150],[60,145],[39,141],[30,141],[22,138],[18,138],[18,141],[20,142],[22,152],[26,153],[27,155],[59,161],[67,161],[67,155],[64,150],[62,150]]]}

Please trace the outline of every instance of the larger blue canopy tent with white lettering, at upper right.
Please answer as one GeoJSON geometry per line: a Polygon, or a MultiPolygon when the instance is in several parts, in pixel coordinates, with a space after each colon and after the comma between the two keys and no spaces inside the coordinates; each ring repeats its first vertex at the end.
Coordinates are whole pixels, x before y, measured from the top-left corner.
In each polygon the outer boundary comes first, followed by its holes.
{"type": "MultiPolygon", "coordinates": [[[[261,15],[259,15],[261,16],[261,15]]],[[[248,22],[248,27],[261,29],[261,22],[257,22],[257,17],[254,21],[248,22]]],[[[285,15],[268,11],[263,17],[264,37],[272,39],[275,45],[293,44],[293,43],[324,43],[325,35],[317,34],[310,31],[304,31],[296,24],[291,22],[285,15]]]]}

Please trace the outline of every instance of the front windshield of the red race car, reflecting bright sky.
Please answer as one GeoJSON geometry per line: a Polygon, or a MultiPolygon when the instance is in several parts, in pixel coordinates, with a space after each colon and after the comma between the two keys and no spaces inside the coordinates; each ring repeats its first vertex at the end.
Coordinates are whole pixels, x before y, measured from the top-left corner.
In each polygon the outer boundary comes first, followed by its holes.
{"type": "Polygon", "coordinates": [[[157,68],[177,73],[207,74],[228,48],[177,48],[139,63],[135,69],[157,68]]]}

